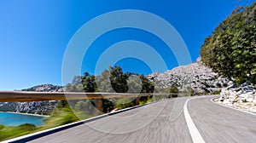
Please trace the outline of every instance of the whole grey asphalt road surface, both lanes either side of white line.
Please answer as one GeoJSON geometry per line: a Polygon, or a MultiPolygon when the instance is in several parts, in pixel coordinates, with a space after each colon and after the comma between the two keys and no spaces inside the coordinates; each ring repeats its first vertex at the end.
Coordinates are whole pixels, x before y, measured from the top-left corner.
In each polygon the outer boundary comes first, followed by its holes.
{"type": "MultiPolygon", "coordinates": [[[[30,142],[152,142],[189,143],[196,139],[183,107],[189,98],[177,98],[84,123],[30,142]],[[193,132],[193,133],[191,133],[193,132]],[[192,137],[193,136],[193,137],[192,137]]],[[[187,103],[189,117],[205,142],[256,142],[256,116],[219,106],[212,96],[187,103]]]]}

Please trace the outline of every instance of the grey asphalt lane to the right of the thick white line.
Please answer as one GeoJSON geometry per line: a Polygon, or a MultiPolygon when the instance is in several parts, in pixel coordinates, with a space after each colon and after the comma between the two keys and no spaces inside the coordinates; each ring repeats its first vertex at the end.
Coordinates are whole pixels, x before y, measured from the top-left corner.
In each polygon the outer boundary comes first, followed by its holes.
{"type": "Polygon", "coordinates": [[[212,97],[189,100],[189,115],[208,143],[255,143],[256,116],[220,106],[212,97]]]}

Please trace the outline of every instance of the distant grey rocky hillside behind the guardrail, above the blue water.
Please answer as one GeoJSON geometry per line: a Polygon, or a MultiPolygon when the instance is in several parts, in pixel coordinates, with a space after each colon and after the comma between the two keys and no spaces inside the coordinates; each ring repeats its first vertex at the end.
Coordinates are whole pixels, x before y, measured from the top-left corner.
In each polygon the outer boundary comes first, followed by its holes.
{"type": "MultiPolygon", "coordinates": [[[[63,92],[64,88],[61,86],[44,84],[38,85],[29,89],[22,89],[22,91],[36,91],[36,92],[63,92]]],[[[57,101],[32,101],[32,102],[9,102],[0,103],[1,112],[22,112],[32,114],[49,115],[52,109],[57,105],[57,101]]]]}

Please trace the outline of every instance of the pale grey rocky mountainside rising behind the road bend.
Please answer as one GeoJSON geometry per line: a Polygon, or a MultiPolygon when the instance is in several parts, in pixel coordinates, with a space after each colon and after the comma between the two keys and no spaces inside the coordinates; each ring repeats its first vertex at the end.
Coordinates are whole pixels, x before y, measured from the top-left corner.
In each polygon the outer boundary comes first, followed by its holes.
{"type": "Polygon", "coordinates": [[[164,73],[154,72],[147,77],[161,89],[175,85],[180,90],[192,88],[197,94],[212,93],[233,83],[204,66],[201,57],[187,66],[177,66],[164,73]]]}

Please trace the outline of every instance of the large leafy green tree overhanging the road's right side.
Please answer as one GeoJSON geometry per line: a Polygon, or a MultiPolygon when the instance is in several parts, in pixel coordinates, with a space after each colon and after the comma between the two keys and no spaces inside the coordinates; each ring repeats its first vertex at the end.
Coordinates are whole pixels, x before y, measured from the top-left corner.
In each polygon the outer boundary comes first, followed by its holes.
{"type": "Polygon", "coordinates": [[[237,83],[256,83],[256,3],[239,7],[201,46],[202,62],[237,83]]]}

